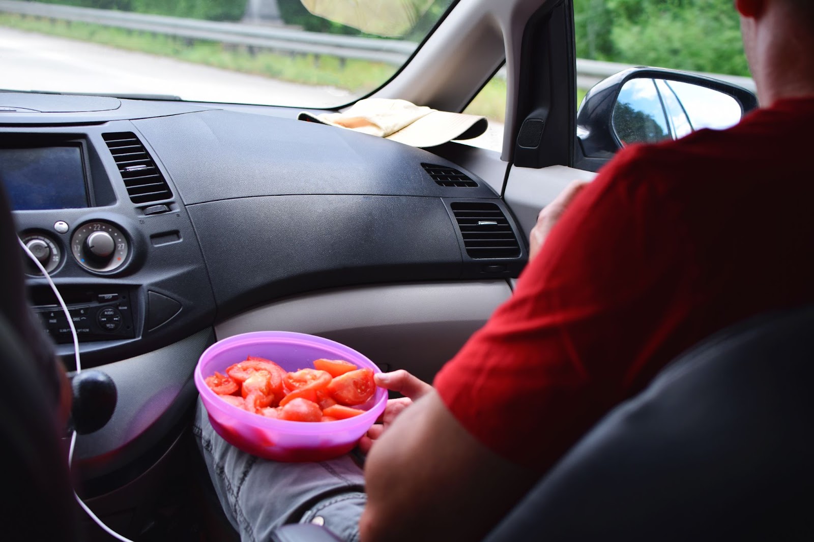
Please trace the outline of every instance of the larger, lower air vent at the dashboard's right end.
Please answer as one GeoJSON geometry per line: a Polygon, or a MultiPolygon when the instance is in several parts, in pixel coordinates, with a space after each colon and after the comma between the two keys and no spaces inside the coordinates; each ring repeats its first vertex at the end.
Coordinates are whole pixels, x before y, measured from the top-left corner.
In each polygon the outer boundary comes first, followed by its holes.
{"type": "Polygon", "coordinates": [[[520,245],[509,221],[495,203],[453,202],[455,221],[470,258],[516,258],[520,245]]]}

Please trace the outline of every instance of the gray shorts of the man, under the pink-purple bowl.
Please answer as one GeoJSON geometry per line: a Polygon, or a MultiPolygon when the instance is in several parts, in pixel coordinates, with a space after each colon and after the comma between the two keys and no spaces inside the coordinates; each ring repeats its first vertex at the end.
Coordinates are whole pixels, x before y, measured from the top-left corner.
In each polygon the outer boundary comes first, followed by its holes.
{"type": "Polygon", "coordinates": [[[243,542],[271,540],[285,523],[322,524],[346,542],[359,540],[365,479],[350,456],[280,463],[241,452],[217,435],[198,401],[193,426],[221,506],[243,542]]]}

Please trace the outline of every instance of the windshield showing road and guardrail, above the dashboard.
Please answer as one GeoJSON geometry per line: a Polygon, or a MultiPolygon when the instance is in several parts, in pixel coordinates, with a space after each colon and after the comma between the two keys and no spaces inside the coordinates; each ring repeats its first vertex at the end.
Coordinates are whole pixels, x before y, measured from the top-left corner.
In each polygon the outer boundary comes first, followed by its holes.
{"type": "Polygon", "coordinates": [[[0,0],[0,88],[338,107],[389,80],[451,4],[0,0]]]}

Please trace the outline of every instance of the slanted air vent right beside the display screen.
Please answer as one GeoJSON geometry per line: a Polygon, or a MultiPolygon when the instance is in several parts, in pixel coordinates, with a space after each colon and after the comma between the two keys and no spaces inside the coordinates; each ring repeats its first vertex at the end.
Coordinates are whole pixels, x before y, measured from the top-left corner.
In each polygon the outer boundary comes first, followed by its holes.
{"type": "Polygon", "coordinates": [[[152,203],[173,197],[167,181],[164,181],[164,176],[161,175],[159,168],[155,167],[155,162],[142,142],[138,141],[135,133],[103,133],[102,137],[113,155],[113,160],[116,160],[116,165],[119,166],[119,173],[125,181],[130,201],[152,203]]]}

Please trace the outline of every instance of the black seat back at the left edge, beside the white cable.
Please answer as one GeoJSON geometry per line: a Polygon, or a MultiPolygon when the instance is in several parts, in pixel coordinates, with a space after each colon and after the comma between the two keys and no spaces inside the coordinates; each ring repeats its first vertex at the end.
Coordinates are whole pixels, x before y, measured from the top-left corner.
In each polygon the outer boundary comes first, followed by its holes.
{"type": "Polygon", "coordinates": [[[77,540],[54,353],[25,299],[15,231],[0,186],[0,539],[77,540]]]}

